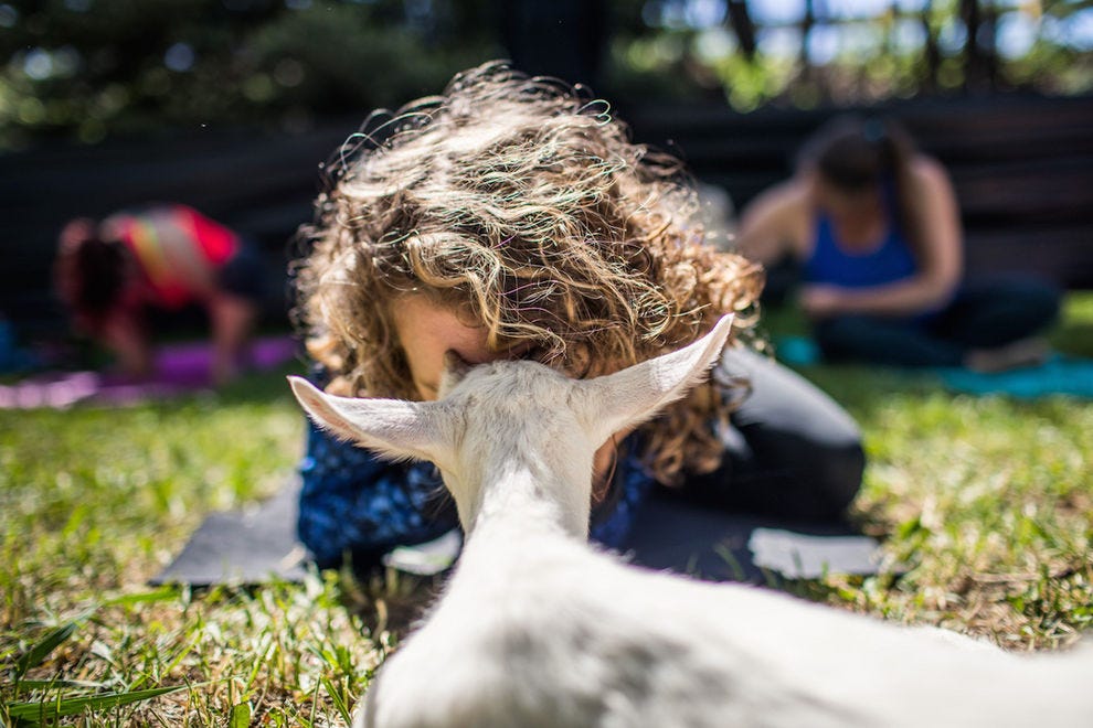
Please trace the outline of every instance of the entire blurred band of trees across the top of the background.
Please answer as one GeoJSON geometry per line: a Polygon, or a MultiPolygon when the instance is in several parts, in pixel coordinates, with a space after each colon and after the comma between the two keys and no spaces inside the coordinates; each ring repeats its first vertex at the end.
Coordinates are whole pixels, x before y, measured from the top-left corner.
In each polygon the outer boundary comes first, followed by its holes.
{"type": "Polygon", "coordinates": [[[852,12],[804,0],[796,19],[771,15],[775,4],[0,0],[0,148],[180,128],[307,129],[436,93],[497,57],[624,105],[728,100],[749,110],[1093,90],[1090,0],[890,0],[852,12]],[[1016,26],[1033,38],[1007,55],[1000,43],[1016,26]],[[778,34],[781,45],[771,42],[778,34]],[[832,34],[834,54],[817,55],[811,41],[832,34]]]}

